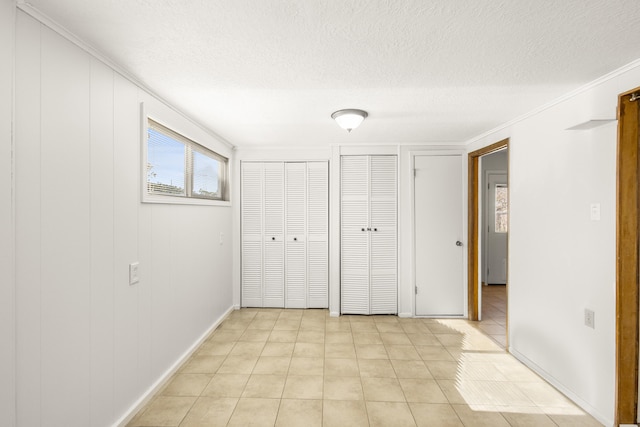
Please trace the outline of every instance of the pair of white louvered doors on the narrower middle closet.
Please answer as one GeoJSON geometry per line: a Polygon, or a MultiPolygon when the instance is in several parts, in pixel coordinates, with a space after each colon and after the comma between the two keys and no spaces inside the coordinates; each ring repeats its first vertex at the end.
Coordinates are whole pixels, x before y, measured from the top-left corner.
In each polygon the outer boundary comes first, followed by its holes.
{"type": "Polygon", "coordinates": [[[397,158],[341,158],[341,311],[397,313],[397,158]]]}

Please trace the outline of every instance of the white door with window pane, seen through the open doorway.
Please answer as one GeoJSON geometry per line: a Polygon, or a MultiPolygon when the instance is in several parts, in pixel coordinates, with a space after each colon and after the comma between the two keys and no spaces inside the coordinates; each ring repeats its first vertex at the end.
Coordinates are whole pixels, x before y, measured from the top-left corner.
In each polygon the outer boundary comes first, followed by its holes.
{"type": "Polygon", "coordinates": [[[487,284],[507,283],[507,175],[489,173],[487,175],[487,241],[486,273],[487,284]]]}

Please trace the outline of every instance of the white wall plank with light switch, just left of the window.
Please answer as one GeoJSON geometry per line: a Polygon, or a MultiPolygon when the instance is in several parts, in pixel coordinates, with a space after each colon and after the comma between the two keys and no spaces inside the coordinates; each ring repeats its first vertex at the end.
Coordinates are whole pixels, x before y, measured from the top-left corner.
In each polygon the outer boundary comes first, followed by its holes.
{"type": "Polygon", "coordinates": [[[138,260],[140,187],[134,184],[140,179],[139,106],[137,89],[119,75],[114,79],[114,112],[114,407],[122,413],[143,390],[138,374],[139,287],[129,286],[129,264],[138,260]]]}

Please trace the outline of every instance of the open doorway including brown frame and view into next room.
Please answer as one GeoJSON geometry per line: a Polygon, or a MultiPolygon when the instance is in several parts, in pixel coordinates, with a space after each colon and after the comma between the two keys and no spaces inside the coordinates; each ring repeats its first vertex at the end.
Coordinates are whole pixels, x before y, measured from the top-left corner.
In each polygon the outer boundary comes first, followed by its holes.
{"type": "Polygon", "coordinates": [[[504,139],[469,153],[468,158],[469,320],[485,318],[487,323],[481,325],[481,329],[488,335],[495,335],[494,339],[505,348],[508,327],[508,147],[509,140],[504,139]],[[504,162],[500,163],[502,160],[504,162]],[[493,197],[492,203],[489,203],[490,197],[493,197]],[[490,253],[487,244],[494,238],[496,244],[490,253]],[[500,288],[488,288],[490,282],[500,288]],[[483,292],[485,288],[487,292],[483,292]]]}

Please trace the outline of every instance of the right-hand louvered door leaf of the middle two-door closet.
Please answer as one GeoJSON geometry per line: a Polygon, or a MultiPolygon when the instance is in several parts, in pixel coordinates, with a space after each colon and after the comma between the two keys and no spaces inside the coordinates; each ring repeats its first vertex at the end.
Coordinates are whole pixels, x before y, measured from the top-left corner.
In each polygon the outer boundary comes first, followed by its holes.
{"type": "Polygon", "coordinates": [[[396,156],[371,156],[371,314],[398,312],[396,180],[396,156]]]}

